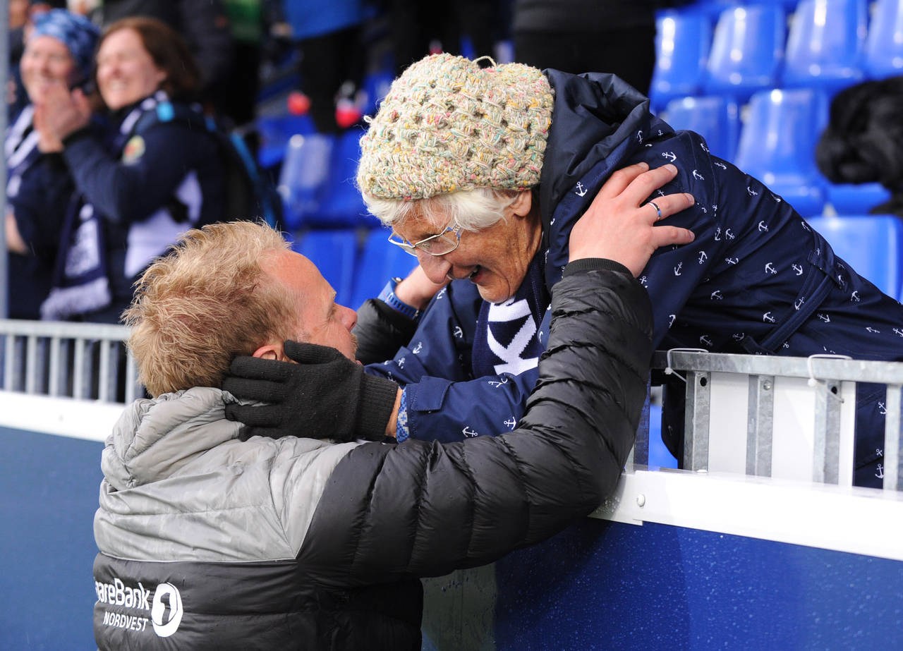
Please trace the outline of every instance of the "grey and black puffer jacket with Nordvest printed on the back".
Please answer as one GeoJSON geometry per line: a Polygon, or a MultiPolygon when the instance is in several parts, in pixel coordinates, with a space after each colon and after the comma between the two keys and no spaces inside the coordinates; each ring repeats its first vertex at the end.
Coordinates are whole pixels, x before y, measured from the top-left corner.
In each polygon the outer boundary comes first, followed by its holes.
{"type": "Polygon", "coordinates": [[[615,488],[652,321],[638,282],[604,266],[555,286],[539,382],[498,437],[240,442],[216,389],[133,407],[149,431],[122,428],[104,453],[98,646],[419,649],[418,577],[544,540],[615,488]]]}

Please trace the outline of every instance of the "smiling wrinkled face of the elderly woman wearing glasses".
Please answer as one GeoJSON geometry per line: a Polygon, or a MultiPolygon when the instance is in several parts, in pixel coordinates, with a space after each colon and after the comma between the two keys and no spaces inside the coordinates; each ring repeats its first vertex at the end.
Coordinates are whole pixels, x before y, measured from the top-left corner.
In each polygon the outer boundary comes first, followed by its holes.
{"type": "MultiPolygon", "coordinates": [[[[447,219],[430,221],[413,216],[395,228],[408,242],[442,233],[447,219]]],[[[533,215],[518,216],[507,210],[506,219],[479,231],[461,231],[461,244],[452,253],[431,256],[417,249],[417,261],[433,283],[446,278],[467,278],[477,285],[484,301],[505,302],[524,281],[526,268],[539,247],[541,230],[533,215]]]]}

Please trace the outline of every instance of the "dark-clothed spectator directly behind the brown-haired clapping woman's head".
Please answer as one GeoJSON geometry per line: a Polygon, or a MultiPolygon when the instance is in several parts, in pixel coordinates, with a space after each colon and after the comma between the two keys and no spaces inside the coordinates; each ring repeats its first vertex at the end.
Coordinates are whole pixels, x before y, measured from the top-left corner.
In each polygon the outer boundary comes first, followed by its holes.
{"type": "Polygon", "coordinates": [[[182,35],[200,79],[194,93],[209,110],[225,113],[232,92],[233,42],[221,0],[103,0],[98,9],[105,27],[130,16],[156,18],[182,35]]]}

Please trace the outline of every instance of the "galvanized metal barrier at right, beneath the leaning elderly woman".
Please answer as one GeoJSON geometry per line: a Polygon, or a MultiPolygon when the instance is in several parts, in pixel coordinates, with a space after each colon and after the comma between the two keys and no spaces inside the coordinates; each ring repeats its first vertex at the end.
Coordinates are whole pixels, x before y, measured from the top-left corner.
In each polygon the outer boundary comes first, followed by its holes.
{"type": "MultiPolygon", "coordinates": [[[[709,469],[713,375],[716,378],[724,377],[721,374],[746,377],[749,387],[746,474],[763,477],[772,475],[776,381],[782,377],[805,379],[805,384],[815,393],[812,480],[829,484],[837,484],[843,470],[840,462],[843,383],[887,385],[883,487],[903,490],[903,456],[900,454],[903,448],[900,427],[903,362],[861,361],[840,356],[790,358],[728,355],[673,349],[656,352],[653,367],[664,370],[666,374],[676,374],[686,381],[683,460],[686,470],[709,469]]],[[[850,395],[850,391],[847,390],[845,395],[850,395]]],[[[848,408],[852,409],[852,405],[848,408]]],[[[852,423],[852,420],[848,421],[852,423]]],[[[716,435],[718,433],[721,432],[716,435]]],[[[848,434],[846,440],[852,446],[852,433],[848,434]]],[[[647,447],[647,444],[638,443],[638,449],[647,447]]],[[[852,448],[849,453],[852,456],[852,448]]]]}

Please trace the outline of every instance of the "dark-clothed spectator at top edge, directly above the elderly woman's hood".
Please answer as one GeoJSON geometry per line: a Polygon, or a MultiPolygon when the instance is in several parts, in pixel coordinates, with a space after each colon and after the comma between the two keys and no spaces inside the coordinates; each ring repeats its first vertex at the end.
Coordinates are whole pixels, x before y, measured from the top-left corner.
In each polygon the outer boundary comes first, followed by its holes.
{"type": "Polygon", "coordinates": [[[612,72],[644,95],[656,64],[658,0],[514,0],[515,60],[612,72]]]}

